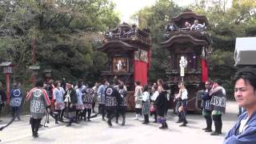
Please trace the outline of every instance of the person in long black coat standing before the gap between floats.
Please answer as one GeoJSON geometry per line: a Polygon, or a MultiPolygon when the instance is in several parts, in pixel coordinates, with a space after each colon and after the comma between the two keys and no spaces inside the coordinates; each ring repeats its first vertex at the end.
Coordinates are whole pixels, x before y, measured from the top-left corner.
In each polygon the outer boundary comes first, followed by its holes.
{"type": "Polygon", "coordinates": [[[167,101],[167,91],[166,91],[166,84],[162,84],[162,90],[159,91],[158,98],[154,101],[154,107],[157,108],[157,114],[158,114],[158,122],[162,124],[159,129],[167,129],[167,123],[166,123],[166,107],[168,106],[167,101]]]}

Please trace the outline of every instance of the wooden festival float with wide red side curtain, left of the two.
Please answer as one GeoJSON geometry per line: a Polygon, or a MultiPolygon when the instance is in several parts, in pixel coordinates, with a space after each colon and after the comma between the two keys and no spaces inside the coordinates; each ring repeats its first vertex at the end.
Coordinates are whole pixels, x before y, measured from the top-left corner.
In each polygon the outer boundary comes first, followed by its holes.
{"type": "Polygon", "coordinates": [[[102,78],[121,79],[128,90],[128,110],[134,110],[134,82],[147,84],[150,67],[150,30],[122,23],[114,30],[108,30],[103,45],[97,50],[107,54],[106,70],[102,78]]]}

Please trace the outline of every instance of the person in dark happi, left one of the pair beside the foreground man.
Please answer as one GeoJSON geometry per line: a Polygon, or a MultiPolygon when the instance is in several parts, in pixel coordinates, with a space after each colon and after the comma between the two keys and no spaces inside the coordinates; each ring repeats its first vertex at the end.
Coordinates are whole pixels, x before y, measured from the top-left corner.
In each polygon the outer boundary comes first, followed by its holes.
{"type": "Polygon", "coordinates": [[[206,90],[201,95],[202,98],[202,115],[206,118],[206,128],[202,129],[205,132],[211,132],[212,118],[211,118],[211,108],[210,108],[210,90],[212,87],[212,82],[210,80],[206,81],[206,90]]]}

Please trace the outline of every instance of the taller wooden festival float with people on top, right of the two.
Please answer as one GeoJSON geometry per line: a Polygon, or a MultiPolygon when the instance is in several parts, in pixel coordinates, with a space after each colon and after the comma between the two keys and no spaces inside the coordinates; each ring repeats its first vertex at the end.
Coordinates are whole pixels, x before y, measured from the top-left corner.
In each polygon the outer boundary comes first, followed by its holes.
{"type": "MultiPolygon", "coordinates": [[[[178,93],[178,82],[185,82],[188,90],[188,110],[200,110],[201,99],[198,90],[204,89],[204,82],[208,79],[207,57],[211,51],[212,40],[207,32],[209,23],[203,15],[186,11],[171,18],[173,29],[166,29],[166,42],[163,48],[169,55],[169,66],[166,69],[167,80],[171,95],[178,93]],[[186,28],[185,23],[192,26],[194,20],[202,24],[198,30],[186,28]],[[184,66],[185,63],[185,66],[184,66]]],[[[170,101],[170,108],[174,108],[174,101],[170,101]]]]}

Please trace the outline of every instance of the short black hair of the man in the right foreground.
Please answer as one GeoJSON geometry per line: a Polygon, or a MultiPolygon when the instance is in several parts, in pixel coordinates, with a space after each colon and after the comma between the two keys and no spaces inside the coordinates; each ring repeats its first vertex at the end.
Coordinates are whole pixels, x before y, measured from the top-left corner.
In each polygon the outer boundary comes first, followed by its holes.
{"type": "Polygon", "coordinates": [[[256,90],[256,69],[254,67],[246,66],[238,70],[238,72],[234,75],[234,83],[240,78],[242,78],[245,82],[250,82],[250,85],[254,87],[254,90],[256,90]]]}

